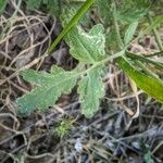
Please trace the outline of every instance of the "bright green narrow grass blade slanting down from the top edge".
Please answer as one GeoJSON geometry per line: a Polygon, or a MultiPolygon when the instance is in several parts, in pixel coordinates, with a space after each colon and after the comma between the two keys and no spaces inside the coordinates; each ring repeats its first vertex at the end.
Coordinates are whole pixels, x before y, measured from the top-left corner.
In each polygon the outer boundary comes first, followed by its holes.
{"type": "Polygon", "coordinates": [[[57,37],[57,39],[49,47],[48,52],[50,53],[55,46],[61,41],[61,39],[73,28],[74,25],[77,24],[79,18],[87,12],[87,10],[93,4],[96,0],[87,0],[83,7],[77,11],[74,17],[70,21],[70,23],[63,28],[61,34],[57,37]]]}

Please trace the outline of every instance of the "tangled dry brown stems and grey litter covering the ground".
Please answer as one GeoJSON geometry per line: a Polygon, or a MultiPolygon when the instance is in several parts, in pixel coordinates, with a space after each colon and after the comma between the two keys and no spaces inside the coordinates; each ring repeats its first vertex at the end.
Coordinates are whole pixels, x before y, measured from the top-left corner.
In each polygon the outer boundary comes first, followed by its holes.
{"type": "MultiPolygon", "coordinates": [[[[41,11],[17,9],[11,0],[0,17],[0,163],[140,163],[145,156],[163,162],[162,104],[140,90],[137,99],[128,78],[114,64],[108,65],[105,98],[93,118],[80,114],[76,90],[45,113],[18,117],[15,100],[34,87],[18,75],[22,70],[49,71],[52,64],[71,70],[76,61],[63,41],[51,55],[42,57],[61,25],[41,11]],[[12,16],[16,10],[17,16],[12,16]],[[140,114],[133,120],[138,101],[140,114]],[[57,135],[61,122],[73,125],[64,138],[57,135]]],[[[158,47],[149,35],[130,50],[146,54],[158,47]]]]}

